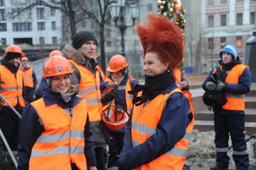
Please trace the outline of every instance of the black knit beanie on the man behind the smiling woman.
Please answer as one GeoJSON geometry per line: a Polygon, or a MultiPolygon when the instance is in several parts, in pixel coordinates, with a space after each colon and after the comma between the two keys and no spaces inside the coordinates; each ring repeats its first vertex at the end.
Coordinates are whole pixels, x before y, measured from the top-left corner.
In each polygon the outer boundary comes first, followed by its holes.
{"type": "Polygon", "coordinates": [[[79,49],[79,47],[82,46],[82,44],[84,44],[86,41],[95,41],[96,45],[97,45],[97,40],[95,35],[93,34],[93,32],[91,31],[81,31],[78,32],[78,34],[75,35],[75,37],[73,38],[72,41],[72,46],[75,49],[79,49]]]}

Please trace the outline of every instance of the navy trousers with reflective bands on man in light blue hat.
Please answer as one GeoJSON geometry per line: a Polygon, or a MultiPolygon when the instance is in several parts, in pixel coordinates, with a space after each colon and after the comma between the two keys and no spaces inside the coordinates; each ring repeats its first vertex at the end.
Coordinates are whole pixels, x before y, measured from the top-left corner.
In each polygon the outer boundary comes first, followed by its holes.
{"type": "Polygon", "coordinates": [[[227,168],[230,157],[227,155],[229,133],[233,145],[233,159],[237,169],[249,168],[249,155],[246,149],[245,114],[214,114],[216,163],[227,168]]]}

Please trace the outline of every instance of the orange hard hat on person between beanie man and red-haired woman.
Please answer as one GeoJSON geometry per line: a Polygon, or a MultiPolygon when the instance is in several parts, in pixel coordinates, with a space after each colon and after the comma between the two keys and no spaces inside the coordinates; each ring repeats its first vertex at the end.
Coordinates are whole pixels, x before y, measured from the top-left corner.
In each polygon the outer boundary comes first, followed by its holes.
{"type": "Polygon", "coordinates": [[[119,70],[122,70],[123,68],[126,68],[127,66],[128,63],[123,55],[114,55],[109,61],[107,70],[109,72],[117,72],[119,70]]]}

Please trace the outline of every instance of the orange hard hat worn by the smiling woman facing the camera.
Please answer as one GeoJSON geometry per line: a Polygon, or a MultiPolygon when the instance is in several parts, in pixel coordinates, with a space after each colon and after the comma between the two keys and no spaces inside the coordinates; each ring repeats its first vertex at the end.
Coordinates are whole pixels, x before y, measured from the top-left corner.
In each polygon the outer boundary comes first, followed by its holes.
{"type": "Polygon", "coordinates": [[[70,62],[59,55],[49,57],[43,66],[43,77],[58,76],[73,73],[70,62]]]}

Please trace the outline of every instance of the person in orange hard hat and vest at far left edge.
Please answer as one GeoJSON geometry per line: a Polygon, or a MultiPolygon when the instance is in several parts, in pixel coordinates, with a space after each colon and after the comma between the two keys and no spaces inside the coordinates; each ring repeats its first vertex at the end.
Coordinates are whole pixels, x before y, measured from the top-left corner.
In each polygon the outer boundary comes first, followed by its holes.
{"type": "MultiPolygon", "coordinates": [[[[25,55],[17,45],[10,45],[5,49],[4,58],[0,65],[0,93],[18,112],[22,112],[25,102],[22,97],[23,79],[22,71],[19,70],[21,56],[25,55]]],[[[11,150],[17,150],[19,135],[19,117],[14,114],[10,107],[1,100],[0,128],[10,145],[11,150]]]]}

